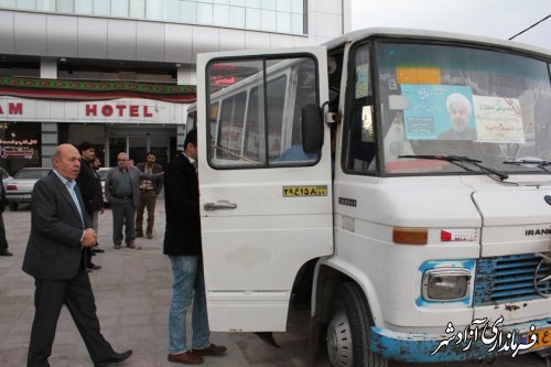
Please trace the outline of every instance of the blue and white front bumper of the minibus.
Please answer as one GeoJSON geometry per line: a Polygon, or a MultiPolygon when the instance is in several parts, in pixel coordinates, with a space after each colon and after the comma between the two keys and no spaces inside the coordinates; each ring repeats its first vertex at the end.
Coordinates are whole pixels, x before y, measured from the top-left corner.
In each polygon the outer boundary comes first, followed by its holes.
{"type": "Polygon", "coordinates": [[[491,332],[490,324],[484,338],[482,328],[475,334],[473,327],[454,330],[449,334],[412,334],[374,326],[370,348],[387,359],[408,363],[477,360],[507,355],[514,357],[517,354],[532,352],[526,348],[529,344],[526,332],[530,331],[532,325],[536,330],[550,327],[551,317],[500,326],[498,333],[491,332]]]}

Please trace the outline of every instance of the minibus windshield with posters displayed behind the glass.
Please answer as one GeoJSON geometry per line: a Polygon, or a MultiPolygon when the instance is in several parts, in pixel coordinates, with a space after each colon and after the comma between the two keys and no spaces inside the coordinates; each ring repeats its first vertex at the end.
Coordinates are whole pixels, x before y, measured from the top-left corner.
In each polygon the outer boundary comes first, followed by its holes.
{"type": "Polygon", "coordinates": [[[464,44],[381,41],[372,50],[379,104],[371,105],[387,175],[480,174],[423,155],[466,156],[506,174],[547,173],[537,163],[551,160],[548,62],[464,44]]]}

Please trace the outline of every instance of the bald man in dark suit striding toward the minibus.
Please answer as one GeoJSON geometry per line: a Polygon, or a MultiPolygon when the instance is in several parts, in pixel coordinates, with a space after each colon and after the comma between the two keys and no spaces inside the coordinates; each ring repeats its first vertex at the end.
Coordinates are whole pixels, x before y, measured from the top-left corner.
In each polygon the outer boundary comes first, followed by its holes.
{"type": "Polygon", "coordinates": [[[31,202],[31,234],[23,271],[34,277],[34,321],[28,367],[48,367],[57,320],[65,304],[96,367],[130,357],[116,353],[100,333],[96,301],[86,272],[83,248],[96,244],[76,176],[80,154],[61,144],[52,158],[54,171],[36,182],[31,202]]]}

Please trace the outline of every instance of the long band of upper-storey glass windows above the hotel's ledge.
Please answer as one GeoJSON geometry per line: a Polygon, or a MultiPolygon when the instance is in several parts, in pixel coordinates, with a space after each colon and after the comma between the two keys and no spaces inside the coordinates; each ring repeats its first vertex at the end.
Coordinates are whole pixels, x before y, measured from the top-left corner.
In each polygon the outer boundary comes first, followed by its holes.
{"type": "Polygon", "coordinates": [[[306,0],[0,0],[0,9],[130,18],[291,34],[306,32],[306,0]],[[268,17],[270,14],[270,17],[268,17]],[[274,24],[276,23],[276,24],[274,24]]]}

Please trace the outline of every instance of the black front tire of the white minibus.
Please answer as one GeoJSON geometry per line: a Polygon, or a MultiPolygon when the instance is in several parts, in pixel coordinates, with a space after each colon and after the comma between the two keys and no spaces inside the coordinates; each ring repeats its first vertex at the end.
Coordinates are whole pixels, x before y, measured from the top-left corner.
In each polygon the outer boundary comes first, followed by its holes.
{"type": "Polygon", "coordinates": [[[371,317],[361,290],[342,283],[327,325],[327,355],[334,367],[387,367],[387,359],[369,349],[371,317]]]}

